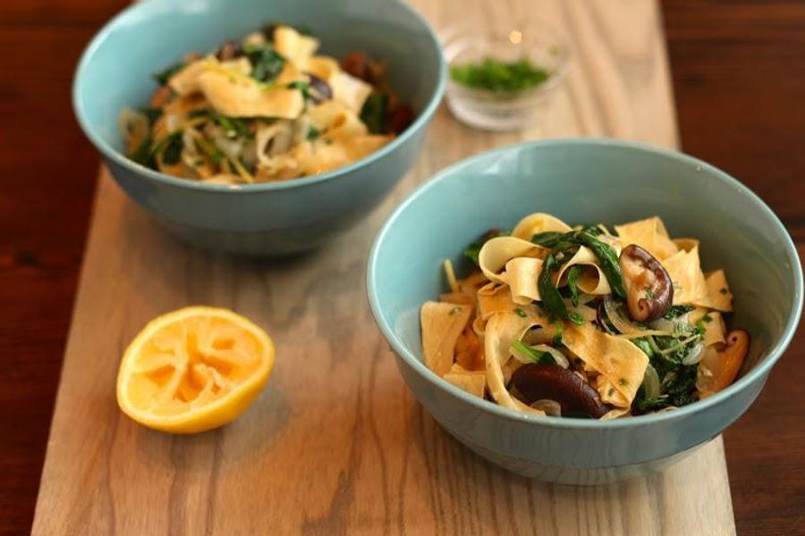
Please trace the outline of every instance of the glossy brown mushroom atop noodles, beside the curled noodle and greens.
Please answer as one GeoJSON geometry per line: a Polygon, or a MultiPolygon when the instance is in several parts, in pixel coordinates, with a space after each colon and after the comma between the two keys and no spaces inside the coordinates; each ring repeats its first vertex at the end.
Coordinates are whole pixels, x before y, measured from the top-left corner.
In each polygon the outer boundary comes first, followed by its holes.
{"type": "Polygon", "coordinates": [[[668,312],[674,303],[674,282],[654,255],[631,244],[621,251],[618,264],[631,320],[650,322],[668,312]]]}

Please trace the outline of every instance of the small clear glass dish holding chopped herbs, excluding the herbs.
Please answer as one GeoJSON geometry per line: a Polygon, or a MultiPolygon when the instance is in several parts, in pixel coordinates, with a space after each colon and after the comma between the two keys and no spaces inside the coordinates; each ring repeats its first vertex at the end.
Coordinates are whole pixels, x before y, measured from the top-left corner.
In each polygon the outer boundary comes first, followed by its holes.
{"type": "Polygon", "coordinates": [[[479,129],[522,130],[537,124],[547,113],[567,71],[570,50],[554,29],[530,24],[500,33],[453,29],[445,36],[445,57],[451,70],[453,65],[487,57],[504,62],[529,59],[546,70],[545,82],[514,93],[467,88],[449,76],[447,105],[457,119],[479,129]]]}

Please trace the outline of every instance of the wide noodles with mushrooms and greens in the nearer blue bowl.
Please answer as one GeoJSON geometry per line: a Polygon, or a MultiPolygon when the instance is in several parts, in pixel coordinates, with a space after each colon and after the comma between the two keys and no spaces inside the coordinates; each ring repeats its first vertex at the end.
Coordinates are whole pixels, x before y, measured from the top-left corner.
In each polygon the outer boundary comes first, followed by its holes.
{"type": "Polygon", "coordinates": [[[602,419],[664,411],[724,389],[747,353],[746,331],[724,323],[724,271],[702,272],[699,241],[671,239],[658,217],[610,233],[530,214],[466,255],[473,272],[457,279],[445,261],[450,291],[422,306],[423,355],[500,406],[602,419]]]}

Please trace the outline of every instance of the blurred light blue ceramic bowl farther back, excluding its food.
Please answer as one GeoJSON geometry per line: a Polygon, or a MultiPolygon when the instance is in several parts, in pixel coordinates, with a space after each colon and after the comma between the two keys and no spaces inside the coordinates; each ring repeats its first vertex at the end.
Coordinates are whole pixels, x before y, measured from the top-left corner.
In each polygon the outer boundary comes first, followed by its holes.
{"type": "Polygon", "coordinates": [[[81,57],[73,105],[114,179],[157,221],[201,247],[289,255],[326,243],[379,203],[422,148],[445,88],[433,29],[399,0],[147,0],[98,32],[81,57]],[[365,50],[389,62],[389,81],[417,119],[358,163],[298,180],[227,187],[179,180],[121,154],[118,115],[146,105],[152,73],[192,50],[208,51],[268,21],[309,28],[322,51],[365,50]]]}

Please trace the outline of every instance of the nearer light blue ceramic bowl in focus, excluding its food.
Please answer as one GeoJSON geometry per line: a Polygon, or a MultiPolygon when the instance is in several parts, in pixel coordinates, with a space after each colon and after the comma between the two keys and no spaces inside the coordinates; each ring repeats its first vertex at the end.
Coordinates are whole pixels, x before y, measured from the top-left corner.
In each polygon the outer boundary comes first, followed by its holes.
{"type": "Polygon", "coordinates": [[[369,302],[419,403],[479,455],[541,480],[595,484],[661,468],[715,438],[750,406],[792,339],[802,306],[797,252],[748,188],[690,156],[618,141],[552,140],[453,165],[388,219],[369,258],[369,302]],[[715,396],[659,415],[598,422],[523,415],[474,398],[422,363],[419,307],[445,288],[441,264],[532,212],[567,222],[662,216],[701,240],[704,267],[724,267],[733,325],[750,331],[749,364],[715,396]]]}

